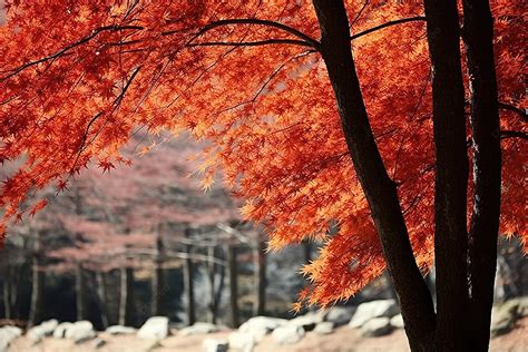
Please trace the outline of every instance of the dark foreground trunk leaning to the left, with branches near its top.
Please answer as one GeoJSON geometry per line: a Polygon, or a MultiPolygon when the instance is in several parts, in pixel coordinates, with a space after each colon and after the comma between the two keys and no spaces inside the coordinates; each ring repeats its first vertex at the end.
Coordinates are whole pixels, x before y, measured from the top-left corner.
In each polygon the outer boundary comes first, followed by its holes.
{"type": "Polygon", "coordinates": [[[338,101],[344,137],[381,239],[411,349],[431,351],[434,336],[431,295],[412,253],[397,185],[387,174],[370,127],[352,59],[343,1],[313,2],[321,27],[320,50],[338,101]]]}

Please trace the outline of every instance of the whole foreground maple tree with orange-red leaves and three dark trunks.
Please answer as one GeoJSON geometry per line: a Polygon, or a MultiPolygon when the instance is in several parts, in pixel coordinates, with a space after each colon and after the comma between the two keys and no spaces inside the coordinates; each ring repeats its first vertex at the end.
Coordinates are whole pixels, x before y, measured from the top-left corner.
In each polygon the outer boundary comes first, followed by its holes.
{"type": "Polygon", "coordinates": [[[388,267],[412,350],[487,349],[497,234],[527,245],[520,1],[7,9],[0,160],[23,166],[2,186],[4,224],[50,184],[129,163],[138,129],[189,130],[211,143],[204,186],[222,168],[272,248],[324,242],[301,300],[345,300],[388,267]]]}

